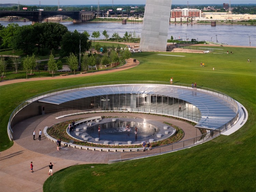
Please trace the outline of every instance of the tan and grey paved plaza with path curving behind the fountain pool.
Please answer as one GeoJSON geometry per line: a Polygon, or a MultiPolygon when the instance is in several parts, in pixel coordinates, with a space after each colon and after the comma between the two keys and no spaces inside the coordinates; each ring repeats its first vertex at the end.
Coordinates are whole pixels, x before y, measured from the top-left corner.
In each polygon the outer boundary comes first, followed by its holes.
{"type": "MultiPolygon", "coordinates": [[[[64,147],[57,151],[56,143],[42,135],[42,140],[33,140],[32,133],[35,130],[38,137],[39,129],[52,126],[58,122],[72,120],[73,118],[88,118],[96,114],[83,114],[62,119],[56,119],[57,115],[41,115],[22,121],[14,126],[14,145],[1,152],[0,184],[1,191],[43,191],[43,183],[49,177],[48,165],[54,163],[54,172],[68,166],[87,163],[108,163],[108,152],[90,151],[64,147]],[[30,162],[33,162],[34,173],[30,173],[30,162]]],[[[101,113],[97,116],[113,116],[113,113],[101,113]]],[[[118,116],[115,113],[115,116],[118,116]]],[[[124,113],[119,114],[124,116],[124,113]]],[[[129,114],[137,118],[145,118],[166,121],[182,127],[188,139],[199,135],[199,131],[192,125],[172,118],[159,117],[146,114],[129,114]],[[197,133],[196,133],[197,131],[197,133]]]]}

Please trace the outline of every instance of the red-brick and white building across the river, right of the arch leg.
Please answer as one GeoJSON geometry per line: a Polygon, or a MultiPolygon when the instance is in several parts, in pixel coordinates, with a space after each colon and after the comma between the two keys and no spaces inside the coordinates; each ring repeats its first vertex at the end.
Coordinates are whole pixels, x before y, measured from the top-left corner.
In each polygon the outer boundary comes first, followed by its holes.
{"type": "Polygon", "coordinates": [[[171,18],[175,17],[201,17],[199,9],[173,9],[171,10],[171,18]]]}

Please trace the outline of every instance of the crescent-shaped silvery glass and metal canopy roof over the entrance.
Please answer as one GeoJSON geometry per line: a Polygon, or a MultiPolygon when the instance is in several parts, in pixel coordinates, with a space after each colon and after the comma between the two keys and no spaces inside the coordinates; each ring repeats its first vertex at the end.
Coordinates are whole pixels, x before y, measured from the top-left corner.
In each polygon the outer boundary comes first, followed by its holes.
{"type": "Polygon", "coordinates": [[[153,94],[184,100],[196,106],[201,118],[196,125],[199,128],[214,130],[230,126],[229,122],[238,118],[238,104],[227,95],[209,89],[162,84],[119,84],[83,87],[54,92],[42,96],[39,101],[62,104],[68,101],[107,94],[153,94]]]}

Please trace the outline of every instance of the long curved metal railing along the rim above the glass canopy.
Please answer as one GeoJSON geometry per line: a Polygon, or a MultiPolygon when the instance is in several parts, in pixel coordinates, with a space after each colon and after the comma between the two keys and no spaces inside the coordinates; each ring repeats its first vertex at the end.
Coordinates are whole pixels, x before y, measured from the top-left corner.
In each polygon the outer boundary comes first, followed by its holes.
{"type": "MultiPolygon", "coordinates": [[[[74,90],[80,90],[80,89],[84,89],[87,87],[102,87],[102,86],[107,86],[107,85],[129,85],[129,84],[146,84],[146,85],[166,85],[168,87],[175,87],[175,88],[180,88],[180,89],[190,89],[191,90],[191,85],[187,85],[187,84],[181,84],[181,83],[173,83],[172,85],[170,85],[169,82],[155,82],[155,81],[122,81],[122,82],[101,82],[101,83],[92,83],[92,84],[84,84],[84,85],[76,85],[76,86],[71,86],[71,87],[65,87],[65,88],[60,88],[60,89],[56,89],[56,90],[52,90],[52,91],[47,91],[38,95],[35,95],[34,97],[26,100],[25,102],[23,102],[22,104],[20,104],[17,108],[14,109],[14,111],[12,112],[10,118],[9,118],[9,123],[8,123],[8,135],[10,140],[12,141],[12,128],[11,128],[11,122],[12,119],[14,118],[14,116],[24,107],[26,107],[27,105],[29,105],[30,103],[34,102],[34,101],[38,101],[39,99],[42,99],[46,96],[50,96],[50,95],[55,95],[58,93],[65,93],[65,92],[70,92],[70,91],[74,91],[74,90]]],[[[204,93],[208,93],[208,94],[212,94],[215,95],[219,98],[222,98],[224,100],[226,100],[229,104],[230,107],[236,112],[236,117],[234,117],[230,123],[228,123],[228,127],[230,127],[230,125],[232,125],[234,122],[236,122],[237,118],[238,118],[238,104],[235,100],[233,100],[231,97],[229,97],[228,95],[221,93],[219,91],[215,91],[213,89],[209,89],[209,88],[205,88],[205,87],[199,87],[197,86],[197,91],[198,92],[204,92],[204,93]]],[[[222,126],[223,129],[226,128],[226,124],[222,126]]]]}

